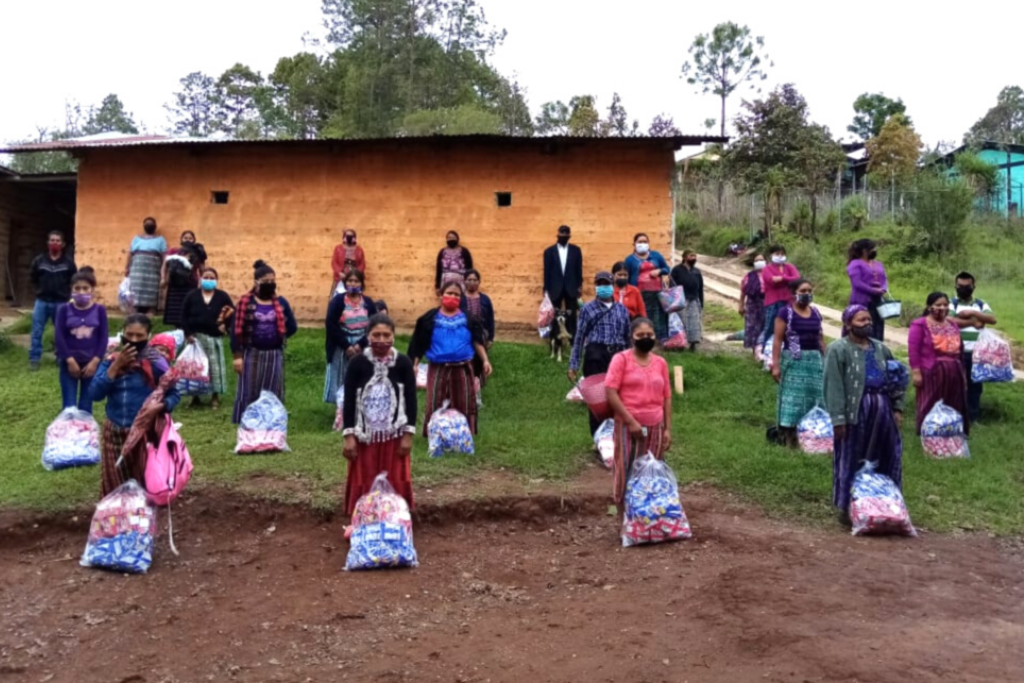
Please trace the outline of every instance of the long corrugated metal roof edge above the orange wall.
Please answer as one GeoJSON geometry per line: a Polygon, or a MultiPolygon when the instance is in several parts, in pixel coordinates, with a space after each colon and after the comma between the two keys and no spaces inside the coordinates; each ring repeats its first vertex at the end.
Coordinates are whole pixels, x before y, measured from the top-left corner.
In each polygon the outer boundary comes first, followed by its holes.
{"type": "Polygon", "coordinates": [[[355,137],[355,138],[322,138],[314,140],[294,140],[294,139],[258,139],[258,140],[237,140],[218,137],[174,137],[170,135],[121,135],[103,133],[101,135],[91,135],[68,140],[52,140],[49,142],[31,142],[28,144],[16,144],[8,147],[0,147],[0,153],[19,154],[29,152],[73,152],[76,150],[110,148],[110,147],[141,147],[150,145],[178,144],[178,145],[293,145],[293,146],[315,146],[329,144],[355,144],[368,142],[399,142],[402,140],[416,141],[436,141],[436,142],[579,142],[581,140],[601,141],[607,144],[618,144],[628,141],[649,141],[669,142],[677,148],[681,146],[702,144],[705,142],[727,142],[727,137],[715,135],[673,135],[666,137],[652,137],[647,135],[637,135],[633,137],[601,137],[597,135],[551,135],[540,137],[525,137],[513,135],[410,135],[400,137],[355,137]]]}

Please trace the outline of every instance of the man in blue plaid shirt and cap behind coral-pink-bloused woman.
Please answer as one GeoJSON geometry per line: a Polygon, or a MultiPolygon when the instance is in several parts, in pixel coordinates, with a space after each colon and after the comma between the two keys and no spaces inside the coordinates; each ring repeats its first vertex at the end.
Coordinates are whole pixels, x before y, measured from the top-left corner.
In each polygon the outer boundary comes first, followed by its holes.
{"type": "MultiPolygon", "coordinates": [[[[594,276],[597,298],[580,309],[575,339],[572,340],[572,355],[569,357],[569,379],[577,380],[581,356],[583,376],[601,375],[608,372],[611,356],[629,348],[630,311],[614,300],[611,273],[601,270],[594,276]]],[[[593,436],[600,421],[590,414],[590,433],[593,436]]]]}

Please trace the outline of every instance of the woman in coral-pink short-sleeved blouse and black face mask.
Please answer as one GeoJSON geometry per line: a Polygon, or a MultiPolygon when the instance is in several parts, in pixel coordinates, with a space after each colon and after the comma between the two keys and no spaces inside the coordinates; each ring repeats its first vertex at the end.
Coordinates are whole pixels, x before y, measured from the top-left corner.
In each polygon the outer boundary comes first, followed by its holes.
{"type": "Polygon", "coordinates": [[[633,348],[616,353],[604,386],[615,415],[614,499],[623,514],[633,462],[648,452],[662,460],[672,445],[672,387],[669,364],[652,353],[654,324],[638,317],[630,326],[633,348]]]}

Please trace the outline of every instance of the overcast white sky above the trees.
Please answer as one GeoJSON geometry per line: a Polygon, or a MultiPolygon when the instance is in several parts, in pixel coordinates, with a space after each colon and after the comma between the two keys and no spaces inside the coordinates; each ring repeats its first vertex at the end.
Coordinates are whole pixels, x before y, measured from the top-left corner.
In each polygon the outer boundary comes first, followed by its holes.
{"type": "MultiPolygon", "coordinates": [[[[764,87],[793,82],[811,117],[835,136],[865,91],[902,97],[926,143],[958,142],[1006,85],[1024,85],[1019,41],[1000,22],[1024,18],[1020,0],[970,6],[861,0],[479,0],[508,39],[495,56],[527,89],[530,109],[573,94],[607,106],[617,90],[646,128],[665,112],[685,133],[702,132],[718,102],[680,79],[697,33],[734,20],[765,37],[774,67],[764,87]],[[622,8],[600,11],[602,6],[622,8]]],[[[218,75],[236,61],[263,73],[319,35],[319,0],[0,0],[0,141],[57,126],[66,100],[98,103],[115,92],[147,130],[178,79],[218,75]]],[[[745,91],[744,97],[755,93],[745,91]]],[[[730,100],[728,118],[739,97],[730,100]]]]}

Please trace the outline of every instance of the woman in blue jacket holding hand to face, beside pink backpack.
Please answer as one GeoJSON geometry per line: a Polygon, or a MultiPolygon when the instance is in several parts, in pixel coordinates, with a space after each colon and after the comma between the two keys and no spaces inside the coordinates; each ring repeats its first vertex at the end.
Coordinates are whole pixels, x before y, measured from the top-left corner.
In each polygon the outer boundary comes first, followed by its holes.
{"type": "MultiPolygon", "coordinates": [[[[121,333],[121,348],[109,355],[96,369],[89,385],[92,400],[106,399],[101,449],[100,496],[106,496],[128,479],[144,481],[145,463],[125,459],[120,466],[121,450],[142,403],[150,397],[160,378],[170,372],[170,366],[160,353],[148,348],[153,324],[142,313],[125,318],[121,333]]],[[[164,393],[164,404],[150,410],[171,412],[180,397],[171,385],[164,393]]]]}

